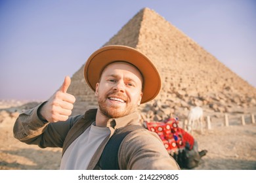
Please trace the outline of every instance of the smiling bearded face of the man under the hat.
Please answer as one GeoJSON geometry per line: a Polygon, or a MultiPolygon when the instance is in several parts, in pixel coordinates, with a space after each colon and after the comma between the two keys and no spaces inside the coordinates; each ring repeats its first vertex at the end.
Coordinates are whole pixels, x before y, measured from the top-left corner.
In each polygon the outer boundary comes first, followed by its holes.
{"type": "Polygon", "coordinates": [[[142,76],[129,63],[112,63],[102,72],[95,95],[104,116],[119,118],[131,114],[140,105],[142,76]]]}

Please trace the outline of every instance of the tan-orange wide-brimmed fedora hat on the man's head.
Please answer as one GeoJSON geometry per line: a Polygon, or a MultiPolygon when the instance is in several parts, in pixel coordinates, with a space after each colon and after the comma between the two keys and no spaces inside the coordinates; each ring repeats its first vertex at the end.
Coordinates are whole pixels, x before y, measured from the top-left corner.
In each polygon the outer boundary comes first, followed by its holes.
{"type": "Polygon", "coordinates": [[[96,50],[87,59],[84,75],[87,84],[95,91],[103,69],[115,61],[125,61],[135,65],[143,76],[143,95],[141,103],[154,99],[161,90],[161,77],[158,69],[144,54],[129,46],[110,45],[96,50]]]}

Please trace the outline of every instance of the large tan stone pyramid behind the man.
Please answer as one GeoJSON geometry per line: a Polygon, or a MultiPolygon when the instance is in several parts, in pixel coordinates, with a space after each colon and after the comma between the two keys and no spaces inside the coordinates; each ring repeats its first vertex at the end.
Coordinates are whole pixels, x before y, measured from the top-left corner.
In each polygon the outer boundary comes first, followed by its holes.
{"type": "MultiPolygon", "coordinates": [[[[141,112],[159,101],[168,112],[196,105],[219,112],[228,112],[234,105],[256,106],[256,88],[154,10],[140,10],[103,46],[110,44],[137,48],[160,71],[161,92],[154,101],[141,105],[141,112]]],[[[68,90],[76,98],[73,114],[97,106],[95,94],[85,83],[83,67],[72,76],[68,90]]]]}

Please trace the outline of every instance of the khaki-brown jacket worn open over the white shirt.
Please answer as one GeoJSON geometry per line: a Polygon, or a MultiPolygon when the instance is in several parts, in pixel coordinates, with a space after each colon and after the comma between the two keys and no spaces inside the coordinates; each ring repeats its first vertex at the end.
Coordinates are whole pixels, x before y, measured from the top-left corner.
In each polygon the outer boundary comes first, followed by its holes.
{"type": "MultiPolygon", "coordinates": [[[[27,144],[37,144],[41,148],[60,147],[62,154],[96,118],[96,109],[92,109],[84,115],[72,116],[66,122],[43,122],[37,116],[39,107],[40,105],[26,110],[18,116],[13,127],[14,137],[27,144]]],[[[122,118],[108,120],[107,127],[111,133],[102,141],[87,169],[100,169],[97,163],[106,143],[116,129],[127,125],[139,125],[139,113],[133,112],[122,118]]],[[[119,147],[118,162],[121,170],[179,169],[158,135],[147,129],[132,131],[123,139],[119,147]]]]}

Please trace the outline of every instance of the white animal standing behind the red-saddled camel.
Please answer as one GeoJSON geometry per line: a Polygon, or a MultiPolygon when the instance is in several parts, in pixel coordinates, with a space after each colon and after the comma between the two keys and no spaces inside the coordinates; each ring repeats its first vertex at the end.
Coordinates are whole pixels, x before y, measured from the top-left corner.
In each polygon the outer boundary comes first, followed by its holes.
{"type": "Polygon", "coordinates": [[[191,108],[188,113],[186,131],[192,133],[194,129],[199,129],[201,133],[203,132],[203,109],[201,107],[191,108]]]}

